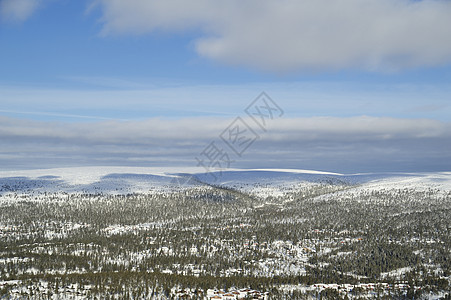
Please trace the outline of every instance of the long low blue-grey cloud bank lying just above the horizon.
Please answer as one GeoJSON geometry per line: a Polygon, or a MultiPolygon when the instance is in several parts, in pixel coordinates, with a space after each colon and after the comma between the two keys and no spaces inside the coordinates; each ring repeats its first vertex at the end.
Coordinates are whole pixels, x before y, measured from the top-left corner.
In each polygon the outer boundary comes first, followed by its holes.
{"type": "MultiPolygon", "coordinates": [[[[80,165],[196,166],[212,141],[231,167],[336,172],[451,169],[451,124],[376,117],[280,119],[242,157],[219,135],[233,119],[55,123],[0,117],[2,170],[80,165]]],[[[252,120],[247,120],[250,126],[252,120]]]]}

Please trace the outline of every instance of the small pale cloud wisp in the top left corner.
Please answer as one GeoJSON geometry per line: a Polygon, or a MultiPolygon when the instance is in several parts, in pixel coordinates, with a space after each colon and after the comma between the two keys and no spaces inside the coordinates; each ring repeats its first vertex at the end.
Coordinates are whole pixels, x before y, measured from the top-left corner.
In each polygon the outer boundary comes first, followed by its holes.
{"type": "Polygon", "coordinates": [[[0,16],[2,20],[23,22],[39,7],[39,0],[2,0],[0,16]]]}

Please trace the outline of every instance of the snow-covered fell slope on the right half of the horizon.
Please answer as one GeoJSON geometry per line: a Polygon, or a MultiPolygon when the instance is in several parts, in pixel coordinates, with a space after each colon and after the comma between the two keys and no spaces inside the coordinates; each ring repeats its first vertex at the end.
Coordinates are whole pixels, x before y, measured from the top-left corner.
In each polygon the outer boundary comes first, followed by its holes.
{"type": "Polygon", "coordinates": [[[201,181],[258,197],[282,196],[313,185],[344,185],[347,190],[439,189],[451,191],[451,172],[337,174],[298,170],[240,170],[197,174],[201,181]]]}

